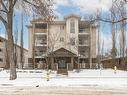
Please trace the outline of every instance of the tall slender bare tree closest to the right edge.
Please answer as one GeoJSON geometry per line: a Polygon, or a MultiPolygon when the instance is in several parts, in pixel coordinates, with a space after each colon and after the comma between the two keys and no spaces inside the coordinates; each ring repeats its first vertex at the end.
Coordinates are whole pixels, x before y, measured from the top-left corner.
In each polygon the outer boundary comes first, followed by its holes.
{"type": "Polygon", "coordinates": [[[124,0],[115,0],[112,4],[112,6],[114,6],[114,10],[115,12],[113,13],[111,11],[112,14],[115,15],[115,19],[113,20],[112,23],[115,24],[115,26],[119,26],[119,28],[116,28],[116,31],[119,32],[119,56],[120,56],[120,60],[122,59],[122,61],[119,61],[120,64],[122,62],[122,66],[125,65],[125,46],[126,46],[126,2],[124,0]],[[116,22],[118,21],[118,22],[116,22]]]}

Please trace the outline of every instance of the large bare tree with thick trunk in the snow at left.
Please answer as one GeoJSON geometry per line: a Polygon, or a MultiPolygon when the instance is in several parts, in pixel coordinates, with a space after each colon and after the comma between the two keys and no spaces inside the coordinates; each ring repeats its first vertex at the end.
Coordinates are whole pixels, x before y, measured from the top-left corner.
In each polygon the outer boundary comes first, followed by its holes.
{"type": "MultiPolygon", "coordinates": [[[[23,0],[23,6],[29,6],[33,11],[42,17],[52,14],[49,0],[23,0]]],[[[51,1],[52,2],[52,1],[51,1]]],[[[7,53],[10,63],[10,80],[16,79],[16,64],[14,62],[14,41],[13,41],[13,15],[16,5],[21,5],[19,0],[0,0],[0,20],[3,22],[7,31],[7,53]]],[[[25,9],[28,9],[28,7],[25,9]]],[[[28,9],[29,10],[29,9],[28,9]]]]}

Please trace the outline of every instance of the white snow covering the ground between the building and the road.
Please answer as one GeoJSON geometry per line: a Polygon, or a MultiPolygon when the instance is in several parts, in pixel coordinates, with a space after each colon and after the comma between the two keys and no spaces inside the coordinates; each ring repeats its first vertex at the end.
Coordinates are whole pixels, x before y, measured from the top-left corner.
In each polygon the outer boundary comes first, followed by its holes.
{"type": "Polygon", "coordinates": [[[69,71],[68,76],[58,75],[56,71],[50,71],[47,81],[45,70],[17,70],[18,78],[9,80],[9,71],[0,72],[0,86],[102,86],[111,88],[127,88],[127,71],[117,70],[116,74],[112,69],[90,70],[84,69],[77,72],[69,71]]]}

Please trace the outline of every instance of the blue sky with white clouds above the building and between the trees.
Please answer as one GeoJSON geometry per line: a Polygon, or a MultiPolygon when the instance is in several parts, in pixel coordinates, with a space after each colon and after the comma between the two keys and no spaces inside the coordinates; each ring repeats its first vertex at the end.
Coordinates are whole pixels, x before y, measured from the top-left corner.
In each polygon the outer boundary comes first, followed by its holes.
{"type": "MultiPolygon", "coordinates": [[[[96,13],[97,9],[101,9],[102,13],[107,13],[111,6],[111,0],[55,0],[55,14],[59,17],[59,20],[62,20],[64,16],[69,14],[77,14],[81,15],[84,18],[87,14],[94,14],[96,13]]],[[[24,47],[28,48],[28,29],[26,25],[30,24],[32,16],[24,15],[24,47]]],[[[20,31],[21,31],[21,11],[15,12],[14,17],[14,31],[16,31],[16,27],[18,28],[19,34],[18,38],[20,38],[20,31]]],[[[0,24],[0,35],[4,36],[3,25],[0,24]]],[[[102,39],[105,40],[105,46],[111,47],[111,41],[108,37],[110,37],[110,28],[109,25],[106,23],[102,24],[101,27],[102,31],[102,39]]],[[[18,44],[20,39],[18,39],[18,44]]]]}

